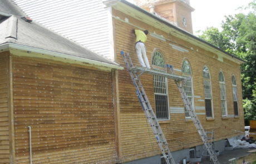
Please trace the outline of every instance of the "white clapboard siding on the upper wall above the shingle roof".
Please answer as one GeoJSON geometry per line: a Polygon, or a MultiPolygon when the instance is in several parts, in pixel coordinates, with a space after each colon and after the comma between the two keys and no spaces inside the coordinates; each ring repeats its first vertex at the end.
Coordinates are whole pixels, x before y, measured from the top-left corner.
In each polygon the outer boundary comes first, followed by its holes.
{"type": "Polygon", "coordinates": [[[43,26],[102,56],[112,58],[107,10],[102,0],[14,2],[43,26]]]}

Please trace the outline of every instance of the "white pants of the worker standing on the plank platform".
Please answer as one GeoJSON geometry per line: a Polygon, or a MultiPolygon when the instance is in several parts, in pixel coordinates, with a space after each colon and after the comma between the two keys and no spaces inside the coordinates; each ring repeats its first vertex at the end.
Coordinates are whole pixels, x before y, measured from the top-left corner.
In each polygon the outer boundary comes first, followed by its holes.
{"type": "Polygon", "coordinates": [[[147,67],[150,69],[149,60],[147,59],[145,44],[142,42],[137,42],[135,44],[135,49],[136,49],[136,53],[137,53],[137,56],[138,56],[141,66],[147,67]],[[142,55],[143,55],[144,60],[142,59],[142,55]]]}

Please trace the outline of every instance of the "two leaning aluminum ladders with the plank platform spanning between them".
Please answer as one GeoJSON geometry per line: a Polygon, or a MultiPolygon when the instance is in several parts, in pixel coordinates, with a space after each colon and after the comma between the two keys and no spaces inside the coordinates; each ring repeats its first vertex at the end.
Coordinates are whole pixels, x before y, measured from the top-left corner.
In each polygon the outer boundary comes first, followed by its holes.
{"type": "Polygon", "coordinates": [[[189,112],[191,120],[193,121],[193,123],[196,127],[196,130],[198,131],[198,133],[204,143],[204,146],[210,155],[210,159],[214,162],[214,164],[219,164],[218,158],[216,157],[215,152],[213,151],[213,148],[211,147],[210,143],[208,142],[208,137],[206,136],[204,128],[201,125],[200,121],[198,120],[198,117],[196,116],[195,111],[193,110],[193,107],[190,105],[189,99],[186,96],[185,91],[183,90],[182,85],[183,85],[183,81],[185,80],[185,78],[174,74],[173,69],[171,69],[170,67],[169,67],[170,71],[173,73],[166,73],[166,72],[156,71],[154,69],[135,67],[131,61],[129,53],[125,54],[124,51],[121,51],[121,55],[122,55],[122,57],[124,57],[124,61],[125,61],[127,70],[129,71],[132,82],[134,83],[134,86],[136,88],[136,94],[139,98],[139,101],[140,101],[143,111],[146,115],[146,118],[149,121],[152,131],[154,132],[156,141],[160,147],[160,150],[165,158],[166,163],[167,164],[175,164],[175,161],[174,161],[173,156],[171,155],[171,152],[168,147],[168,142],[165,139],[164,133],[161,130],[159,122],[157,121],[156,115],[150,105],[149,99],[146,96],[146,93],[142,86],[142,83],[140,82],[140,76],[142,73],[153,74],[156,76],[162,76],[162,77],[174,79],[174,81],[180,91],[181,98],[184,102],[186,110],[189,112]]]}

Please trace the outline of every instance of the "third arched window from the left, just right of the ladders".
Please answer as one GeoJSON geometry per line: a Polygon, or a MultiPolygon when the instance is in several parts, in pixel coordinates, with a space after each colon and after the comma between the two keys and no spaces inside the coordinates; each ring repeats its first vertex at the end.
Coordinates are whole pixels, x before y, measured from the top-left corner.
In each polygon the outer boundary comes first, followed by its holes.
{"type": "Polygon", "coordinates": [[[213,117],[213,99],[211,98],[211,77],[208,67],[203,68],[204,101],[206,117],[213,117]]]}

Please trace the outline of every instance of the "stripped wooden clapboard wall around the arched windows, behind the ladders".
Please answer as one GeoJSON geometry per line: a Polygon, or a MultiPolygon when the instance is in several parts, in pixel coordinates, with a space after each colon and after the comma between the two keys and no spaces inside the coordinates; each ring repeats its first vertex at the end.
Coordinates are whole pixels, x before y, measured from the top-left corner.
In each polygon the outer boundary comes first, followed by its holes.
{"type": "MultiPolygon", "coordinates": [[[[244,131],[244,117],[242,108],[242,88],[240,78],[240,67],[228,59],[223,62],[214,59],[218,57],[216,54],[195,46],[180,38],[176,38],[171,34],[167,34],[160,29],[156,29],[148,24],[139,22],[138,20],[127,16],[120,11],[113,11],[114,16],[114,30],[115,30],[115,47],[116,52],[120,51],[129,52],[132,61],[135,65],[139,66],[137,56],[134,49],[135,36],[132,34],[132,29],[141,27],[148,29],[150,32],[156,32],[168,38],[167,41],[161,41],[155,37],[147,35],[147,56],[151,63],[152,52],[158,48],[165,58],[165,62],[173,64],[174,68],[181,69],[183,59],[188,59],[191,65],[193,75],[193,88],[194,88],[194,104],[195,107],[204,107],[204,86],[203,86],[203,67],[208,66],[211,75],[211,84],[213,92],[213,108],[214,119],[206,120],[205,110],[195,110],[196,113],[203,113],[198,115],[203,127],[208,130],[214,129],[215,140],[223,140],[228,137],[240,135],[237,131],[244,131]],[[129,20],[126,23],[124,20],[129,20]],[[133,26],[134,25],[134,26],[133,26]],[[169,43],[175,44],[181,48],[186,49],[188,52],[181,52],[172,48],[169,43]],[[186,48],[188,47],[188,48],[186,48]],[[191,47],[193,49],[191,49],[191,47]],[[220,92],[219,92],[219,71],[224,72],[227,90],[227,104],[228,115],[234,115],[233,110],[233,95],[232,95],[232,74],[235,74],[238,82],[238,98],[239,98],[239,117],[228,117],[224,119],[221,117],[220,108],[220,92]]],[[[117,55],[117,61],[125,67],[124,61],[120,55],[117,55]]],[[[176,71],[177,72],[177,71],[176,71]]],[[[177,72],[181,74],[180,72],[177,72]]],[[[152,76],[142,75],[142,85],[145,88],[147,96],[154,108],[154,91],[152,76]]],[[[181,100],[178,88],[173,80],[168,80],[169,92],[169,106],[170,107],[184,107],[181,100]]],[[[144,112],[140,106],[135,93],[135,87],[130,79],[129,73],[119,71],[119,99],[120,99],[120,124],[121,124],[121,148],[122,160],[131,161],[138,158],[149,157],[160,154],[159,147],[156,144],[155,138],[152,135],[151,128],[147,125],[144,112]]],[[[166,140],[169,142],[171,151],[181,150],[183,148],[194,147],[203,144],[196,131],[196,128],[190,120],[185,120],[184,113],[170,113],[170,120],[159,121],[161,128],[164,131],[166,140]]]]}

